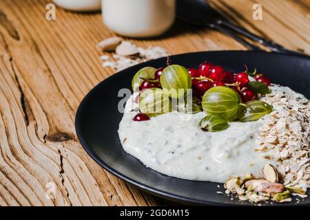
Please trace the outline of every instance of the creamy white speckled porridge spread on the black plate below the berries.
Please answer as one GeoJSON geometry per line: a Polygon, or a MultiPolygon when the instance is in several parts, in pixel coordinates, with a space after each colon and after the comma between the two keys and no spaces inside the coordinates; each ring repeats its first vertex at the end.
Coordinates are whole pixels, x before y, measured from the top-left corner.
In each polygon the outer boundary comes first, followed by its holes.
{"type": "MultiPolygon", "coordinates": [[[[271,90],[296,94],[278,85],[271,90]]],[[[189,120],[184,113],[172,112],[135,122],[132,99],[127,100],[118,135],[127,153],[159,173],[223,183],[227,177],[243,173],[261,177],[262,167],[270,163],[254,151],[264,117],[256,122],[231,122],[224,131],[206,132],[198,128],[204,112],[191,115],[189,120]]]]}

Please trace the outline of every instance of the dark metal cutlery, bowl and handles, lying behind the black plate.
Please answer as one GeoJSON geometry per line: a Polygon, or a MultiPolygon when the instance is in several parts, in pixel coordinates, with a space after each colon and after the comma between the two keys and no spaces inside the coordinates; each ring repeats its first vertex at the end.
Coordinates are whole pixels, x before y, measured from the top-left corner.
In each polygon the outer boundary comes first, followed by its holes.
{"type": "Polygon", "coordinates": [[[178,0],[176,1],[176,12],[180,19],[192,23],[194,25],[205,25],[214,30],[218,30],[223,34],[228,34],[233,37],[236,41],[242,43],[247,48],[251,50],[262,50],[260,47],[252,45],[248,41],[245,41],[241,36],[245,36],[251,41],[255,41],[269,48],[273,52],[282,52],[287,54],[298,54],[304,55],[300,52],[289,50],[278,43],[265,39],[261,36],[258,36],[245,28],[238,27],[234,23],[227,21],[223,18],[216,10],[211,8],[209,3],[206,0],[178,0]],[[237,33],[237,34],[236,34],[237,33]],[[240,34],[241,36],[239,36],[240,34]]]}

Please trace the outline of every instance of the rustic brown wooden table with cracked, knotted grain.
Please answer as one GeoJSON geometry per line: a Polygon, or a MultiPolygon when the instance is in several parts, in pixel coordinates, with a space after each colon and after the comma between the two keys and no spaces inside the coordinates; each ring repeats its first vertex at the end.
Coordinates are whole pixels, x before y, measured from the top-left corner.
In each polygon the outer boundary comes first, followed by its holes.
{"type": "MultiPolygon", "coordinates": [[[[100,13],[56,8],[48,1],[0,1],[0,205],[154,206],[167,203],[114,177],[83,150],[74,115],[94,85],[111,76],[95,45],[115,34],[100,13]],[[52,191],[50,197],[47,192],[52,191]],[[55,192],[55,193],[53,193],[55,192]]],[[[292,50],[310,54],[310,1],[212,1],[225,17],[292,50]],[[252,19],[262,3],[263,20],[252,19]]],[[[245,50],[218,32],[181,21],[159,39],[169,54],[203,50],[245,50]]]]}

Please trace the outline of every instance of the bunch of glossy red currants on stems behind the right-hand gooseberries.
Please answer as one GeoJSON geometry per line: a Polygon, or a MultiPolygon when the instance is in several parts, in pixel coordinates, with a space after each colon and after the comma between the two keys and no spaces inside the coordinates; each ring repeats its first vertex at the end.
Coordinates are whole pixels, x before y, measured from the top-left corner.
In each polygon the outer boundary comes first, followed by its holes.
{"type": "MultiPolygon", "coordinates": [[[[194,96],[201,97],[211,87],[227,86],[235,89],[240,95],[242,102],[249,102],[256,98],[254,91],[247,87],[249,83],[249,73],[247,68],[245,72],[234,74],[227,72],[219,65],[213,65],[209,62],[203,62],[198,69],[187,69],[189,75],[192,77],[192,89],[194,96]]],[[[254,76],[256,81],[270,85],[270,80],[262,74],[254,76]]]]}

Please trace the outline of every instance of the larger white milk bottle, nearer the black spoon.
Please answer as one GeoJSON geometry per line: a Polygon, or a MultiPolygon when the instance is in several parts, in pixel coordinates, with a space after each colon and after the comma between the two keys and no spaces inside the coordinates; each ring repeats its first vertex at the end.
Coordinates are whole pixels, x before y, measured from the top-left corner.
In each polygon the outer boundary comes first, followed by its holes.
{"type": "Polygon", "coordinates": [[[102,0],[103,23],[123,36],[158,36],[174,23],[175,4],[175,0],[102,0]]]}

